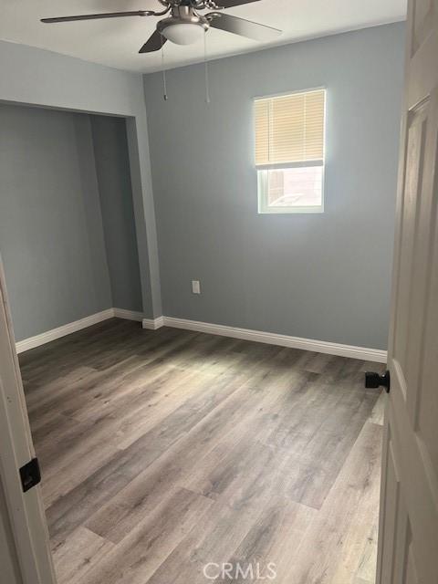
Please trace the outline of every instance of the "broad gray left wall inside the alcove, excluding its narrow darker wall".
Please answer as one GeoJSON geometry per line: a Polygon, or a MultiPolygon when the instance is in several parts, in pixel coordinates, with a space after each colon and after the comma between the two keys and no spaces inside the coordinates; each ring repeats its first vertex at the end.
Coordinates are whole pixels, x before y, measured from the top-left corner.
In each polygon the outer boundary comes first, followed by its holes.
{"type": "Polygon", "coordinates": [[[0,252],[16,339],[112,306],[89,116],[0,105],[0,252]]]}

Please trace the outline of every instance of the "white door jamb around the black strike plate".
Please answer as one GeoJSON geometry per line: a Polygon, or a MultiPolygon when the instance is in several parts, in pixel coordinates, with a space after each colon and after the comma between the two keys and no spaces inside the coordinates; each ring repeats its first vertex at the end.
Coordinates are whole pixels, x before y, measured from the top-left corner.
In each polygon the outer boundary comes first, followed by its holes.
{"type": "MultiPolygon", "coordinates": [[[[1,518],[14,540],[2,553],[9,550],[11,565],[18,558],[23,584],[55,584],[40,487],[24,493],[18,472],[34,456],[0,256],[0,489],[9,515],[1,518]]],[[[2,564],[2,582],[3,569],[2,564]]]]}

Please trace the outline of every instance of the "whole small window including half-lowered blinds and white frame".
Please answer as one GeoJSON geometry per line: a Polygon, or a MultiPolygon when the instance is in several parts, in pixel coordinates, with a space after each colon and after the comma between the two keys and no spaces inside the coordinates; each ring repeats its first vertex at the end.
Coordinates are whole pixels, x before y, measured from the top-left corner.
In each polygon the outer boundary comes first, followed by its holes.
{"type": "Polygon", "coordinates": [[[325,89],[255,99],[259,213],[324,210],[325,89]]]}

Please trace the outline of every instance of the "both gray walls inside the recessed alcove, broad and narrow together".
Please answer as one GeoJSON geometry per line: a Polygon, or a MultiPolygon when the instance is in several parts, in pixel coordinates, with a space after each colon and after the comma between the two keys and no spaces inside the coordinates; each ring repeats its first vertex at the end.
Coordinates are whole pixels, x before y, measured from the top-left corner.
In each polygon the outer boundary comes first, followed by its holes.
{"type": "Polygon", "coordinates": [[[16,339],[141,312],[125,120],[0,105],[0,253],[16,339]]]}

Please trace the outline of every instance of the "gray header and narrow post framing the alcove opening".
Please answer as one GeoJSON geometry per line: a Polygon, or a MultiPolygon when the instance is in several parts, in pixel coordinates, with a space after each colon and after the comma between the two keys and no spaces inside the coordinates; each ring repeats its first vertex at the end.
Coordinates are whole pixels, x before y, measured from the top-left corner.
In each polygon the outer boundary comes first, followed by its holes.
{"type": "Polygon", "coordinates": [[[0,41],[0,101],[125,116],[145,317],[162,314],[141,75],[0,41]]]}

